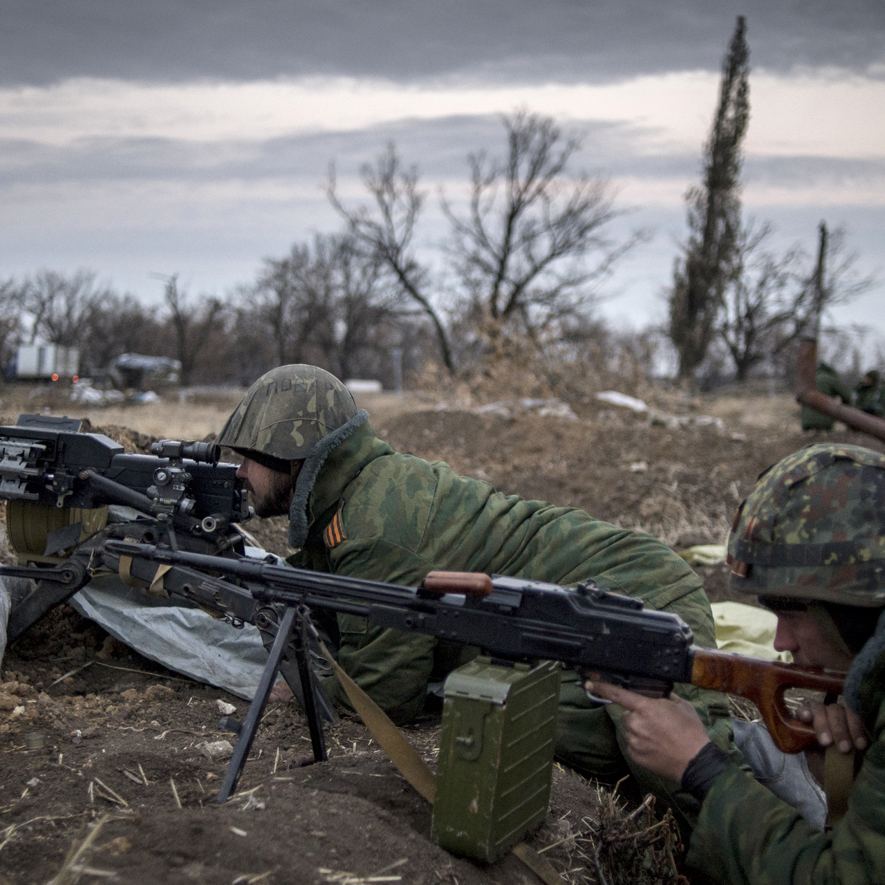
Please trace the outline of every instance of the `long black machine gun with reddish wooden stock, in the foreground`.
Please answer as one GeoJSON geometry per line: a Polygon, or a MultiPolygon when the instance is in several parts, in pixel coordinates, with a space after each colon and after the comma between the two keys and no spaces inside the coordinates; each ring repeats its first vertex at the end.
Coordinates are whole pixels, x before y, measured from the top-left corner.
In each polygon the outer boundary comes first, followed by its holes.
{"type": "MultiPolygon", "coordinates": [[[[678,615],[643,608],[641,600],[597,589],[593,581],[571,589],[501,575],[431,572],[414,588],[152,544],[106,541],[104,550],[172,566],[161,580],[215,611],[242,607],[248,593],[258,608],[281,605],[304,617],[311,607],[346,612],[381,627],[478,646],[493,658],[557,660],[586,678],[652,696],[668,695],[677,682],[730,692],[758,706],[774,742],[788,753],[812,743],[815,734],[789,712],[784,692],[840,692],[845,678],[820,667],[694,645],[678,615]]],[[[148,577],[160,577],[158,569],[149,569],[148,577]]]]}

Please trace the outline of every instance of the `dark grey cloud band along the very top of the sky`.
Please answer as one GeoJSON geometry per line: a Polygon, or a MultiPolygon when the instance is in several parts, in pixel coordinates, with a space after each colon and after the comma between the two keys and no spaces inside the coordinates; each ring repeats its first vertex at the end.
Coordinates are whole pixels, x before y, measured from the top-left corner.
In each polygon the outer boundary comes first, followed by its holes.
{"type": "Polygon", "coordinates": [[[883,58],[881,0],[2,0],[0,82],[349,74],[604,81],[716,69],[735,12],[754,65],[883,58]]]}

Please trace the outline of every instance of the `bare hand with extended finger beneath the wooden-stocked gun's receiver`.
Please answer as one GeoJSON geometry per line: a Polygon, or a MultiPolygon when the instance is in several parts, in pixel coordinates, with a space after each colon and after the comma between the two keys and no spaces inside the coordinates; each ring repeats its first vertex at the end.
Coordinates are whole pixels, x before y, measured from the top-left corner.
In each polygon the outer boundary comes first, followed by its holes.
{"type": "Polygon", "coordinates": [[[689,762],[710,743],[695,708],[681,697],[651,698],[606,682],[585,682],[597,697],[620,704],[627,753],[637,766],[681,782],[689,762]]]}

